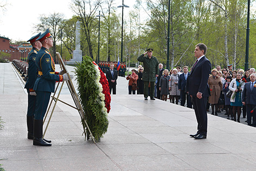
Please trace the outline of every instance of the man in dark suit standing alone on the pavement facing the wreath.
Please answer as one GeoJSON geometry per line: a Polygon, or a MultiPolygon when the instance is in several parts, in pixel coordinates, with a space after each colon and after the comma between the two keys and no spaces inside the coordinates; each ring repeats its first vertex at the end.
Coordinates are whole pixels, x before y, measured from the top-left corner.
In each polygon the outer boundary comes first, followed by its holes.
{"type": "Polygon", "coordinates": [[[208,86],[209,74],[211,73],[211,63],[205,57],[207,46],[199,43],[194,50],[197,61],[194,63],[190,76],[188,77],[188,93],[192,97],[194,112],[197,117],[197,133],[190,135],[195,139],[204,139],[207,135],[207,97],[210,95],[208,86]]]}

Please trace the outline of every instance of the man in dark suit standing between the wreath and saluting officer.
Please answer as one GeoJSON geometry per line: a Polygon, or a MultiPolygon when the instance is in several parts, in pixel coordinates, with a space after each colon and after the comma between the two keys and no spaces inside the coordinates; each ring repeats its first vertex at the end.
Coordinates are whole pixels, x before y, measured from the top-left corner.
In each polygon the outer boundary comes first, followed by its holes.
{"type": "Polygon", "coordinates": [[[116,93],[116,87],[117,87],[117,70],[114,70],[114,64],[111,64],[109,66],[109,70],[106,72],[106,77],[109,85],[109,91],[111,94],[111,90],[113,89],[113,94],[116,93]]]}

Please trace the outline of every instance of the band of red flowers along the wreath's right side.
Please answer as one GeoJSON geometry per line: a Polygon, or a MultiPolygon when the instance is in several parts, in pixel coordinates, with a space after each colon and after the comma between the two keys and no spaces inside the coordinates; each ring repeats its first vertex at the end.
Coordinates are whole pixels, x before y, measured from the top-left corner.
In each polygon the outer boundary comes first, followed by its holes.
{"type": "MultiPolygon", "coordinates": [[[[95,62],[93,62],[94,65],[97,65],[95,62]]],[[[97,65],[98,66],[98,65],[97,65]]],[[[107,108],[107,113],[109,113],[110,111],[110,102],[111,102],[111,95],[109,93],[109,85],[108,85],[108,81],[107,78],[105,76],[105,74],[101,71],[100,67],[98,66],[99,70],[100,70],[100,83],[102,85],[102,93],[105,95],[105,107],[107,108]]]]}

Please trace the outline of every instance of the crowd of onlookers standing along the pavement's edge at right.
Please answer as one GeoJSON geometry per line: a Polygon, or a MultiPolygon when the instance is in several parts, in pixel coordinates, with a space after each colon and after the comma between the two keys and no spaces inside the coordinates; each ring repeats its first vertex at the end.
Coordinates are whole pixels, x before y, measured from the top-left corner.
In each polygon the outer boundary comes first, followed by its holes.
{"type": "MultiPolygon", "coordinates": [[[[144,93],[143,71],[143,66],[139,65],[138,70],[133,69],[132,74],[126,77],[126,80],[129,80],[129,94],[136,94],[136,91],[137,94],[144,93]]],[[[155,90],[154,97],[164,101],[169,99],[171,103],[176,105],[180,102],[181,106],[185,106],[186,103],[187,107],[192,108],[192,100],[187,91],[187,78],[189,76],[188,66],[184,66],[182,69],[178,66],[169,71],[163,69],[163,65],[160,63],[159,76],[155,78],[155,86],[153,87],[155,90]]],[[[244,71],[243,69],[233,70],[232,65],[229,65],[228,69],[221,69],[221,66],[218,65],[215,69],[212,69],[208,79],[210,96],[208,97],[207,111],[210,112],[210,107],[213,115],[225,111],[227,119],[237,122],[240,122],[242,113],[243,118],[246,118],[247,115],[248,125],[256,126],[256,117],[253,118],[255,114],[252,112],[256,104],[252,104],[249,108],[248,116],[248,107],[245,105],[246,94],[243,93],[247,82],[253,81],[253,87],[256,88],[255,78],[254,68],[244,71]],[[252,121],[252,118],[254,121],[252,121]]],[[[150,89],[151,86],[148,84],[148,93],[150,89]]],[[[250,93],[252,93],[251,90],[250,93]]]]}

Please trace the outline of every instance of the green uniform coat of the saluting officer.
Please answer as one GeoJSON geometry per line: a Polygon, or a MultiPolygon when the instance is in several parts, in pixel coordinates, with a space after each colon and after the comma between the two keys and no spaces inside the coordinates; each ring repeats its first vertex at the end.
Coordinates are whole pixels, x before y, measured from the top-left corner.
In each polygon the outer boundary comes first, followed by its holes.
{"type": "Polygon", "coordinates": [[[159,62],[156,59],[156,57],[152,56],[149,59],[148,56],[144,56],[144,54],[142,54],[137,59],[139,62],[143,62],[143,66],[144,66],[142,80],[155,82],[156,75],[159,75],[159,66],[158,66],[159,62]]]}

